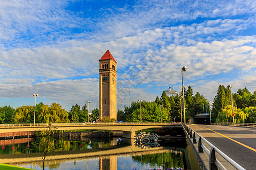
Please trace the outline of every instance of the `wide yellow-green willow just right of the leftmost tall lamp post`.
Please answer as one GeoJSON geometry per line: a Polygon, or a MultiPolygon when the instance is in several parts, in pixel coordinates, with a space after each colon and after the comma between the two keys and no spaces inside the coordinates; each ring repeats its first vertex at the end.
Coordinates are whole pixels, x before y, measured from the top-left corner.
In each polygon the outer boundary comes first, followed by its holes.
{"type": "Polygon", "coordinates": [[[39,120],[43,123],[69,122],[68,112],[60,104],[52,103],[51,107],[43,105],[39,111],[39,120]]]}

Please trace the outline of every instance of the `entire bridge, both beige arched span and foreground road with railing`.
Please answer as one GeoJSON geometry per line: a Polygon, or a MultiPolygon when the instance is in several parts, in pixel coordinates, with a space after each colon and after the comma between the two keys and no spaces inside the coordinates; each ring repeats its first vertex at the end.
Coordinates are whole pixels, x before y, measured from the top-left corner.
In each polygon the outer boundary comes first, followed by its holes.
{"type": "Polygon", "coordinates": [[[150,128],[183,128],[202,169],[254,169],[256,167],[256,128],[180,123],[73,123],[0,125],[0,133],[55,130],[119,130],[124,138],[150,128]],[[192,138],[192,139],[191,139],[192,138]],[[228,168],[225,168],[228,167],[228,168]]]}

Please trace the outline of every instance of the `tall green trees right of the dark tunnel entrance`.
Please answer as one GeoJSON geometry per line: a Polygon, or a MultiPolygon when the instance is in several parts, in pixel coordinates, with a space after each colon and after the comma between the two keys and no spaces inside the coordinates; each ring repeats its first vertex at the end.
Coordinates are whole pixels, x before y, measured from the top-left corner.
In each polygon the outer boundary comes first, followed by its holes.
{"type": "MultiPolygon", "coordinates": [[[[238,123],[256,122],[256,91],[247,88],[238,89],[233,97],[234,121],[238,123]]],[[[231,93],[228,87],[220,85],[212,105],[213,120],[216,122],[233,122],[231,93]]]]}

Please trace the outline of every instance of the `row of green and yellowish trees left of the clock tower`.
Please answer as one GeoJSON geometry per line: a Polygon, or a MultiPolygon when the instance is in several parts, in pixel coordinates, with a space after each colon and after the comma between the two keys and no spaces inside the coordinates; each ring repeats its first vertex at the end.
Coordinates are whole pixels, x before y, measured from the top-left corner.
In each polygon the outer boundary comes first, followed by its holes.
{"type": "MultiPolygon", "coordinates": [[[[32,124],[34,123],[34,111],[36,123],[53,122],[87,122],[88,109],[84,106],[73,105],[69,112],[65,111],[60,104],[52,103],[50,106],[43,103],[36,104],[36,109],[32,105],[23,105],[16,109],[10,106],[0,107],[0,124],[32,124]]],[[[98,120],[99,110],[95,108],[89,115],[89,121],[98,120]]]]}

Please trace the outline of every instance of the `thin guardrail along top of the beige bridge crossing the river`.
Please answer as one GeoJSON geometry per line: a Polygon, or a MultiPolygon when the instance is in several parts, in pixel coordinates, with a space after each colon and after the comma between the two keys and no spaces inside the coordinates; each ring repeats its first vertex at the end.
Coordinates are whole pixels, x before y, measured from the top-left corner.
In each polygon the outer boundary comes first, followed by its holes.
{"type": "MultiPolygon", "coordinates": [[[[158,122],[94,122],[94,123],[51,123],[51,124],[35,124],[35,126],[73,126],[73,125],[181,125],[180,122],[168,122],[168,123],[158,123],[158,122]]],[[[8,126],[34,126],[34,124],[0,124],[1,127],[8,126]]]]}

